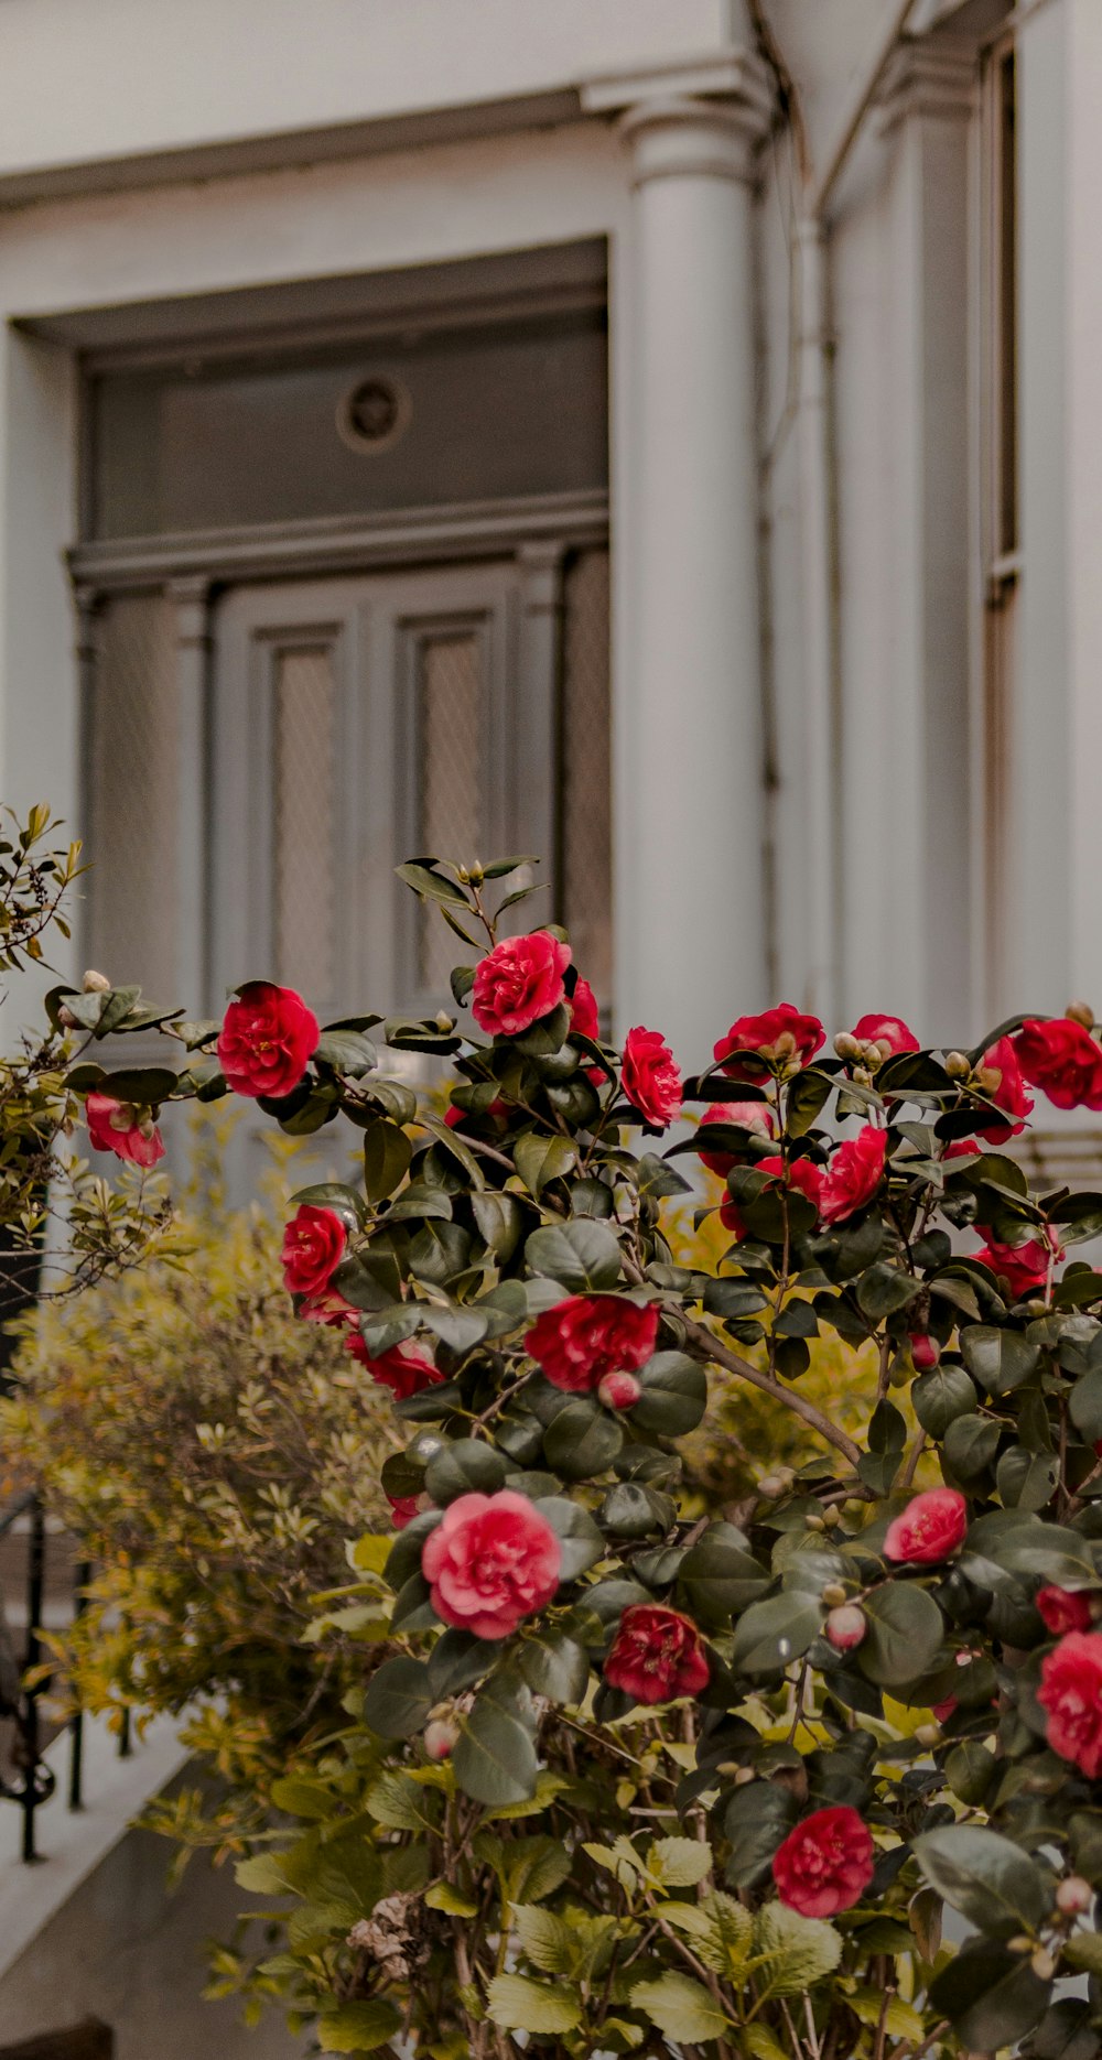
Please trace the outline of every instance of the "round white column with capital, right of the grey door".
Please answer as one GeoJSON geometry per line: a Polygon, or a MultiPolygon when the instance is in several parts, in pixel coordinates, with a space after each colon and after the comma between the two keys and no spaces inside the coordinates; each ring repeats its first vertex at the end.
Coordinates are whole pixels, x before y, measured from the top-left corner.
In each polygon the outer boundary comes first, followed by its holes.
{"type": "Polygon", "coordinates": [[[750,192],[766,103],[737,80],[622,117],[630,309],[612,311],[630,321],[616,1026],[661,1030],[686,1067],[766,999],[750,192]]]}

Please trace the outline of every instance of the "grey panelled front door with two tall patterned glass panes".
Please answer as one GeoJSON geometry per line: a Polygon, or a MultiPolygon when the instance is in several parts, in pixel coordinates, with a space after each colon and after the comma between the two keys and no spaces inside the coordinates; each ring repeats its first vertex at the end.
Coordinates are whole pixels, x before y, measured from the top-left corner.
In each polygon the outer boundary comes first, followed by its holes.
{"type": "MultiPolygon", "coordinates": [[[[231,589],[214,612],[212,1007],[437,1007],[453,960],[402,857],[554,859],[554,649],[517,560],[231,589]]],[[[548,911],[550,913],[550,911],[548,911]]],[[[443,933],[443,935],[441,935],[443,933]]]]}

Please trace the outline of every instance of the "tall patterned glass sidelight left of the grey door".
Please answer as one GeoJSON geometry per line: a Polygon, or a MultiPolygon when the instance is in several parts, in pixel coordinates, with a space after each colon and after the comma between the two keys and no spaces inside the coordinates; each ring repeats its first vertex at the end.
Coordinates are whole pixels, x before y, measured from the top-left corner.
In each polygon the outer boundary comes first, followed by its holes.
{"type": "Polygon", "coordinates": [[[122,595],[99,622],[89,740],[87,958],[175,1001],[177,692],[173,606],[122,595]]]}

